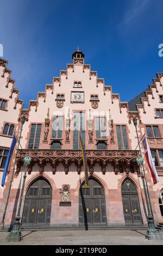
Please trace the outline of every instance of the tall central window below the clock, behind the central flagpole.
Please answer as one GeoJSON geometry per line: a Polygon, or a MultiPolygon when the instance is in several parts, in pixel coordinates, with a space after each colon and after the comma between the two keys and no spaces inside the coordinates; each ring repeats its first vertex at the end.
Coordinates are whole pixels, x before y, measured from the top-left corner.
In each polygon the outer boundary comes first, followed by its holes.
{"type": "Polygon", "coordinates": [[[75,112],[73,121],[73,149],[79,149],[79,131],[85,148],[85,113],[75,112]]]}

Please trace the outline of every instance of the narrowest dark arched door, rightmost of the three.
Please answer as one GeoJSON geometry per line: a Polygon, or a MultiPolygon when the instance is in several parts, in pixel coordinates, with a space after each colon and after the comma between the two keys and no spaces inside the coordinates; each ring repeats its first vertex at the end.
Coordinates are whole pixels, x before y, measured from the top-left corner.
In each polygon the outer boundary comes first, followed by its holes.
{"type": "Polygon", "coordinates": [[[142,224],[137,188],[128,178],[122,183],[122,203],[126,225],[142,224]]]}

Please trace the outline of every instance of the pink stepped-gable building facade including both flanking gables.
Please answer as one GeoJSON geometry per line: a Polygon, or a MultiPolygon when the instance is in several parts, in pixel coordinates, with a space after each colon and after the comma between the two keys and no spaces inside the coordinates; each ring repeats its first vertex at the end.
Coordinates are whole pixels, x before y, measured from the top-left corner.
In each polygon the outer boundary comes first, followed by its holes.
{"type": "MultiPolygon", "coordinates": [[[[21,209],[22,226],[78,227],[146,225],[146,200],[140,169],[133,118],[137,119],[140,138],[147,131],[153,150],[158,184],[154,185],[145,161],[146,178],[155,222],[161,222],[163,189],[163,74],[156,74],[148,90],[131,102],[121,102],[120,95],[98,78],[84,63],[84,54],[73,53],[73,63],[46,84],[36,100],[23,109],[15,81],[10,78],[7,61],[0,60],[0,148],[9,149],[12,135],[5,124],[14,125],[17,136],[21,117],[26,121],[21,134],[22,149],[15,151],[4,187],[0,187],[0,220],[14,162],[5,227],[13,224],[22,187],[23,157],[32,157],[28,167],[21,209]],[[135,105],[136,104],[136,105],[135,105]],[[3,107],[3,106],[2,106],[3,107]],[[86,149],[89,188],[84,181],[82,155],[78,148],[79,132],[86,149]],[[7,133],[7,134],[3,134],[7,133]],[[125,187],[126,186],[126,187],[125,187]]],[[[1,152],[2,152],[1,150],[1,152]]],[[[5,159],[4,159],[5,160],[5,159]]],[[[3,168],[0,169],[2,179],[3,168]]]]}

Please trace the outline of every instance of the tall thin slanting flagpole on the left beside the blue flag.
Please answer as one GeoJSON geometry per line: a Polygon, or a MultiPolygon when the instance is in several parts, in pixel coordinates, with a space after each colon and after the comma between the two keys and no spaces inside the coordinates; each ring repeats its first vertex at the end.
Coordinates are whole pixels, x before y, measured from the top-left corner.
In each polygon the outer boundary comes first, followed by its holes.
{"type": "MultiPolygon", "coordinates": [[[[23,124],[25,123],[25,120],[26,120],[25,117],[21,117],[21,130],[20,130],[20,135],[19,135],[19,138],[18,138],[18,144],[17,144],[16,152],[17,152],[17,149],[19,148],[19,145],[21,146],[20,139],[21,139],[21,134],[22,134],[22,130],[23,130],[23,124]]],[[[16,138],[17,138],[17,136],[16,136],[16,138]]],[[[16,163],[14,162],[14,166],[13,166],[12,174],[11,174],[11,179],[10,179],[10,186],[9,186],[8,196],[7,196],[7,202],[5,203],[5,208],[4,208],[2,222],[1,222],[2,230],[4,229],[4,219],[5,219],[8,203],[9,203],[9,197],[10,197],[10,192],[11,192],[12,180],[14,178],[15,165],[16,165],[16,163]]]]}

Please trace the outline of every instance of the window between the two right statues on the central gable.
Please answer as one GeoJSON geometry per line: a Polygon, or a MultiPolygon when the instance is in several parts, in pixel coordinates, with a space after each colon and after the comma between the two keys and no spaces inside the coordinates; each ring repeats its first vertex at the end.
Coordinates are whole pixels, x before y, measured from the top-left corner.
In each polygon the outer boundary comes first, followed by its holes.
{"type": "Polygon", "coordinates": [[[96,138],[105,139],[106,138],[105,117],[95,117],[95,124],[96,124],[96,138]]]}

